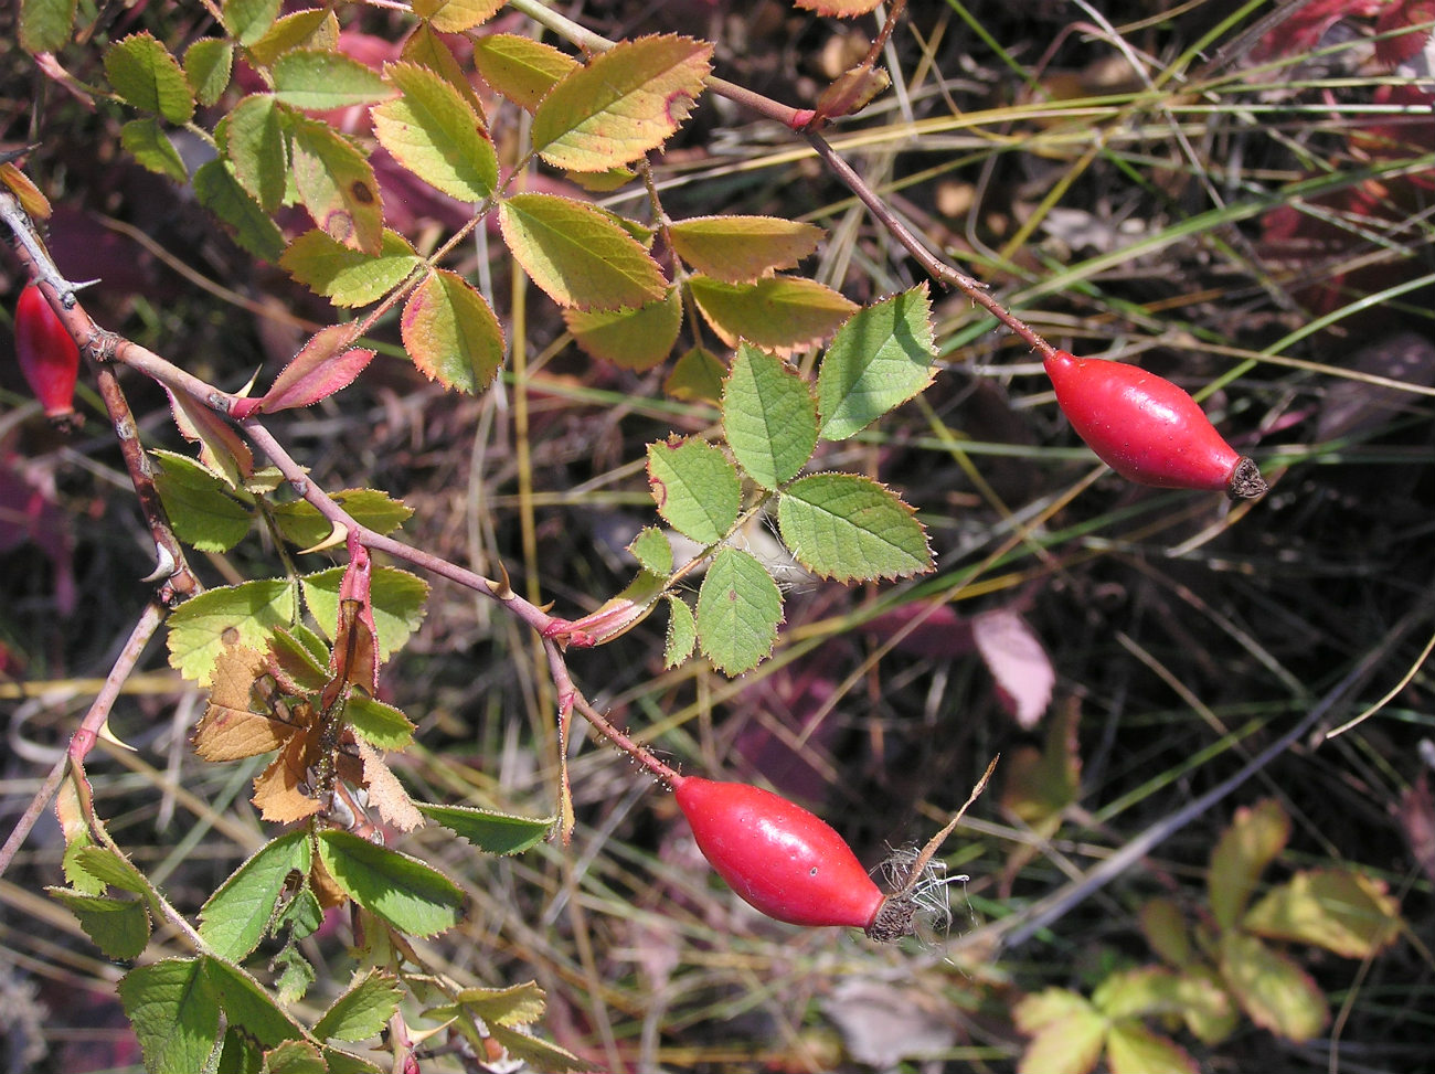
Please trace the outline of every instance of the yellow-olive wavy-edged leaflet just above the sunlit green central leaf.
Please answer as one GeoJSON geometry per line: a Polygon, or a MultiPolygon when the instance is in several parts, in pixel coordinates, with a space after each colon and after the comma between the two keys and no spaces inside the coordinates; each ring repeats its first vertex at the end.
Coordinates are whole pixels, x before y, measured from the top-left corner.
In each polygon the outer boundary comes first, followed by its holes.
{"type": "Polygon", "coordinates": [[[695,276],[687,283],[697,309],[723,343],[746,340],[784,358],[821,343],[857,310],[857,303],[831,287],[792,276],[756,283],[695,276]]]}

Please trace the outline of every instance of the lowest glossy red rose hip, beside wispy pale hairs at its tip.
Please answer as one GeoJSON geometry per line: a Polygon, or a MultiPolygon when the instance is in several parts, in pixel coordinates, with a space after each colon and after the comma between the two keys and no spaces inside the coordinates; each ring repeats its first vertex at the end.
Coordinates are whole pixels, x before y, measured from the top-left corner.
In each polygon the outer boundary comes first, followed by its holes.
{"type": "Polygon", "coordinates": [[[769,917],[855,929],[877,919],[881,890],[821,817],[742,783],[682,775],[673,790],[703,857],[769,917]]]}

